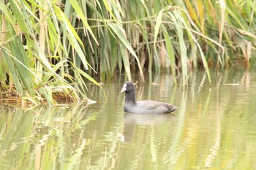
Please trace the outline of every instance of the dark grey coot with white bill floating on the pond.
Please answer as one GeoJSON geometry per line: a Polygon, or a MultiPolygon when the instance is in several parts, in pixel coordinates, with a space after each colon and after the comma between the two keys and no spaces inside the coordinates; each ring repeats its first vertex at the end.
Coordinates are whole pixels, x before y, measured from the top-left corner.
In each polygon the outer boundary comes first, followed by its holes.
{"type": "Polygon", "coordinates": [[[132,82],[124,82],[124,87],[122,88],[121,93],[124,91],[124,112],[140,114],[161,114],[170,113],[178,109],[178,107],[160,101],[136,101],[135,86],[132,82]]]}

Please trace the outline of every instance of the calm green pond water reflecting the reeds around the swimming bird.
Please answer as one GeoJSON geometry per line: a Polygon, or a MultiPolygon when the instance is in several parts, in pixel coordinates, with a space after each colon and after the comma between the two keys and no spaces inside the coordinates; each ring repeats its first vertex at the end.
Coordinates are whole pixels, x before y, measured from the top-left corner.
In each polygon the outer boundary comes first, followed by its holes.
{"type": "Polygon", "coordinates": [[[188,88],[165,74],[138,82],[138,99],[179,107],[166,115],[124,113],[122,76],[102,85],[106,99],[89,84],[97,104],[88,107],[0,105],[0,169],[256,169],[256,72],[211,79],[198,71],[188,88]]]}

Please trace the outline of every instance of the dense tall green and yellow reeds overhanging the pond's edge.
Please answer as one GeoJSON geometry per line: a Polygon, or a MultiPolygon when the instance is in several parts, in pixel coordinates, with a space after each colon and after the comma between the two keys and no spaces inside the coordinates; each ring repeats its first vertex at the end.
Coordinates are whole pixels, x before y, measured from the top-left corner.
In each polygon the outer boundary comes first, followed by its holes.
{"type": "Polygon", "coordinates": [[[165,70],[187,85],[200,66],[211,83],[209,64],[253,63],[255,11],[252,0],[0,1],[1,91],[35,104],[53,104],[52,94],[79,101],[95,73],[103,82],[165,70]]]}

